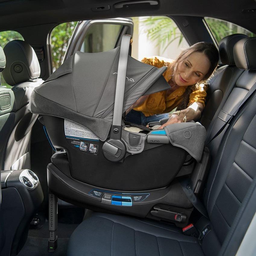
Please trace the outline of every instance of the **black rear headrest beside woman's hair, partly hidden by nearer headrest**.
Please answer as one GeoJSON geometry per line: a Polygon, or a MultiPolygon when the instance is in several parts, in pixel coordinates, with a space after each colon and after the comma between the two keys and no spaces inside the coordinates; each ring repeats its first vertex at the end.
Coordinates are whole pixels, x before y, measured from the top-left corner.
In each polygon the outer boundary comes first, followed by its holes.
{"type": "Polygon", "coordinates": [[[222,40],[220,40],[219,53],[222,64],[235,66],[233,49],[235,44],[243,38],[248,38],[248,36],[244,34],[233,34],[230,36],[225,36],[222,40]]]}

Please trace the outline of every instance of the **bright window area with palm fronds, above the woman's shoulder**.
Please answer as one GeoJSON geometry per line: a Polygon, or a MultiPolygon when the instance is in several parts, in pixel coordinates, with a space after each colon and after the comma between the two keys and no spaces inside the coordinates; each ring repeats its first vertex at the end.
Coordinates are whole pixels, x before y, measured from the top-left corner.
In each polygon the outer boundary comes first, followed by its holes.
{"type": "Polygon", "coordinates": [[[166,16],[133,17],[132,57],[147,56],[175,59],[189,45],[175,22],[166,16]]]}

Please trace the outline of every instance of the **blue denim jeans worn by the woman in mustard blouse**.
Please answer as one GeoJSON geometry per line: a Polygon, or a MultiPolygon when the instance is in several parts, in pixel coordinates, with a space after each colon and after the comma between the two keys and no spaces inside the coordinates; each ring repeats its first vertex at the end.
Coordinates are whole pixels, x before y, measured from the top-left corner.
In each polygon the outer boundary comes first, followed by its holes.
{"type": "Polygon", "coordinates": [[[125,121],[131,122],[137,125],[147,125],[150,122],[158,122],[159,120],[163,118],[169,117],[168,113],[160,114],[160,115],[150,115],[145,116],[142,112],[131,110],[125,117],[125,121]]]}

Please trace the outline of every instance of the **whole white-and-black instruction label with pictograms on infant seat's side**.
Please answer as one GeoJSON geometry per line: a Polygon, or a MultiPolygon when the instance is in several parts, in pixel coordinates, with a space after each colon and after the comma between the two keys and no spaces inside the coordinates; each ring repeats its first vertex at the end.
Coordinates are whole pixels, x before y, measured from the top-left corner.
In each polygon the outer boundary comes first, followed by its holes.
{"type": "Polygon", "coordinates": [[[99,138],[86,127],[65,119],[64,130],[66,140],[71,147],[88,154],[99,155],[99,138]]]}

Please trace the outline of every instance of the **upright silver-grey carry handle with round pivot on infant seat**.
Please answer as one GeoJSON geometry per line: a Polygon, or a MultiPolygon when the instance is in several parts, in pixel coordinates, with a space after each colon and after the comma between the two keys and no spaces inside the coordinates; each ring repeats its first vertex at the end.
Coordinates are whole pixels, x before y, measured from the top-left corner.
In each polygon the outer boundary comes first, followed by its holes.
{"type": "Polygon", "coordinates": [[[110,129],[110,138],[107,141],[105,141],[105,143],[102,146],[103,155],[107,160],[111,162],[121,161],[126,154],[126,146],[124,142],[121,140],[121,135],[123,103],[125,95],[125,79],[130,42],[130,35],[122,36],[115,88],[113,122],[110,129]]]}

